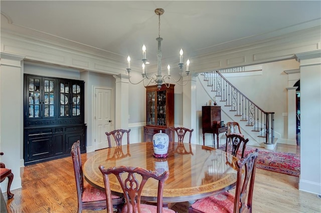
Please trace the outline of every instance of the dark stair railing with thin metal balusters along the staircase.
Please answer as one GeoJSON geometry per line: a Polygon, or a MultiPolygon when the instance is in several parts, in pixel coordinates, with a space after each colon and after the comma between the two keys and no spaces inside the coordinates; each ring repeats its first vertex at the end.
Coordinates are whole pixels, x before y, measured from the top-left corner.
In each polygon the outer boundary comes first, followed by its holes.
{"type": "Polygon", "coordinates": [[[258,131],[259,137],[265,137],[265,143],[274,144],[274,112],[264,111],[252,100],[246,97],[220,71],[204,72],[207,86],[212,87],[216,101],[225,102],[230,111],[235,111],[241,121],[247,126],[253,126],[252,131],[258,131]]]}

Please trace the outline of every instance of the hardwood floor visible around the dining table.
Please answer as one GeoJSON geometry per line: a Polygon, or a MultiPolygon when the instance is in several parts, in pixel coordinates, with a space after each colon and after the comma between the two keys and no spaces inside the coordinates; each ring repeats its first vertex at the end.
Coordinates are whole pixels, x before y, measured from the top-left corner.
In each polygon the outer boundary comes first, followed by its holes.
{"type": "MultiPolygon", "coordinates": [[[[297,152],[293,145],[278,144],[276,150],[297,152]]],[[[82,162],[93,154],[82,154],[82,162]]],[[[77,193],[71,157],[21,169],[22,188],[12,190],[9,212],[77,212],[77,193]]],[[[298,177],[257,169],[253,212],[321,212],[321,199],[298,190],[298,177]]],[[[83,212],[106,212],[84,210],[83,212]]]]}

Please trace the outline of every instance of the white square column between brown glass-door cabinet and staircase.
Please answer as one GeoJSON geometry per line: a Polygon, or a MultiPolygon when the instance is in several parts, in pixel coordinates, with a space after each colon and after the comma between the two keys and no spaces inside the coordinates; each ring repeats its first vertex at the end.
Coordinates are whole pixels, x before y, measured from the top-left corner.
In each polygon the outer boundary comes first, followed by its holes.
{"type": "Polygon", "coordinates": [[[190,73],[188,76],[183,77],[183,126],[186,128],[194,129],[192,133],[192,143],[199,143],[196,140],[199,135],[199,128],[197,123],[196,112],[196,77],[198,73],[190,73]]]}

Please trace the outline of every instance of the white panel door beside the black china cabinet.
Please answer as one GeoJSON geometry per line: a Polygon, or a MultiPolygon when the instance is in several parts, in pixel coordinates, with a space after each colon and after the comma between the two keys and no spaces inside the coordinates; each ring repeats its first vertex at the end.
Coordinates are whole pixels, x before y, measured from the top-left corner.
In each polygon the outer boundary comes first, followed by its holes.
{"type": "Polygon", "coordinates": [[[112,91],[95,88],[95,150],[108,147],[106,131],[112,129],[112,91]]]}

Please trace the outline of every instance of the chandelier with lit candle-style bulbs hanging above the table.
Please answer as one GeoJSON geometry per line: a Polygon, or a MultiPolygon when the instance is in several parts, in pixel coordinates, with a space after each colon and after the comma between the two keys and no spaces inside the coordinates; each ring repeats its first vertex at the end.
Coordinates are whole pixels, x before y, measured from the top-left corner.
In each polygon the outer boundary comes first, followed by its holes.
{"type": "MultiPolygon", "coordinates": [[[[162,40],[163,38],[161,37],[161,15],[164,13],[164,9],[162,8],[156,8],[155,9],[155,14],[158,15],[158,37],[156,38],[157,42],[158,42],[158,48],[157,48],[157,74],[153,74],[151,76],[148,76],[146,74],[146,64],[149,64],[149,62],[147,62],[147,59],[146,59],[146,46],[143,45],[142,46],[142,79],[136,83],[132,82],[130,80],[130,71],[131,71],[131,68],[130,68],[130,56],[128,55],[127,57],[127,63],[128,63],[128,68],[127,69],[127,73],[128,73],[128,79],[129,79],[129,82],[132,83],[132,84],[138,84],[140,83],[141,81],[143,82],[144,86],[147,86],[149,85],[149,83],[156,83],[157,84],[157,87],[158,89],[160,89],[162,87],[162,84],[165,83],[167,87],[170,86],[170,81],[174,81],[176,83],[178,83],[179,85],[186,85],[187,84],[187,81],[185,84],[181,84],[179,81],[182,79],[182,74],[183,74],[183,49],[180,50],[180,63],[179,63],[179,67],[181,69],[181,72],[180,72],[180,78],[179,79],[174,79],[172,76],[171,76],[171,66],[170,64],[167,66],[167,70],[168,70],[168,74],[166,75],[162,75],[162,40]],[[148,79],[149,81],[147,81],[148,83],[145,84],[145,79],[148,79]]],[[[188,77],[190,71],[189,71],[189,66],[190,66],[190,60],[188,59],[186,61],[186,75],[188,77]]]]}

